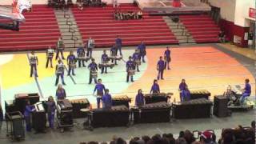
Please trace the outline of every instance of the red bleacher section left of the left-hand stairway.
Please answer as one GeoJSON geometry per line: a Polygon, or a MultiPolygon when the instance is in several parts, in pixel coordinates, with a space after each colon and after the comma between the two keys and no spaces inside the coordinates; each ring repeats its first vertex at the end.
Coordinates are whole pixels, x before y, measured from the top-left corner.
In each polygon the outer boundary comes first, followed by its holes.
{"type": "Polygon", "coordinates": [[[33,6],[32,12],[23,13],[26,22],[19,31],[0,29],[0,51],[45,50],[55,46],[61,35],[54,10],[46,5],[33,6]]]}

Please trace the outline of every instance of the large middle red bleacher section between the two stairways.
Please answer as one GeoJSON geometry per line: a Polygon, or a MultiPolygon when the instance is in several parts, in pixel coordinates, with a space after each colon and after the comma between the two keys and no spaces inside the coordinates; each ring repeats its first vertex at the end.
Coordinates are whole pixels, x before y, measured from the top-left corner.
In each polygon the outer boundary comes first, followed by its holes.
{"type": "MultiPolygon", "coordinates": [[[[122,4],[120,11],[137,11],[132,4],[122,4]]],[[[114,8],[89,7],[84,10],[73,8],[74,18],[83,41],[94,38],[97,47],[113,46],[117,35],[123,46],[137,46],[141,41],[146,45],[177,44],[178,41],[161,16],[150,16],[143,12],[141,20],[114,20],[114,8]]]]}

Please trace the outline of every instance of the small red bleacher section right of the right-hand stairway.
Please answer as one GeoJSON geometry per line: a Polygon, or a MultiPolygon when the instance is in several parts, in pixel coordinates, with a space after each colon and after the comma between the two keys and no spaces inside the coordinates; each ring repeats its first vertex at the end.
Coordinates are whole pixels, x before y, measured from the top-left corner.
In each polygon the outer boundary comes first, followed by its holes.
{"type": "Polygon", "coordinates": [[[218,42],[220,28],[209,15],[181,15],[179,18],[195,42],[218,42]]]}

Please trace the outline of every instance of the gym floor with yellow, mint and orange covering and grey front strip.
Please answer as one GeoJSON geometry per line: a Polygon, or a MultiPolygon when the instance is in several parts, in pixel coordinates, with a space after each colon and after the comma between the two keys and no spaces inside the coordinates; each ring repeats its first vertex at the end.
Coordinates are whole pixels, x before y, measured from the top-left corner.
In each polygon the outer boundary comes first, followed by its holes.
{"type": "MultiPolygon", "coordinates": [[[[125,61],[134,53],[134,47],[123,50],[124,61],[118,61],[118,66],[108,69],[108,74],[99,74],[102,83],[110,89],[113,96],[128,95],[134,99],[138,89],[142,89],[144,94],[149,93],[150,86],[157,76],[156,63],[159,56],[166,50],[165,46],[150,46],[147,49],[146,63],[140,66],[140,72],[134,76],[135,82],[126,82],[125,61]]],[[[68,52],[65,53],[67,56],[68,52]]],[[[109,54],[109,51],[108,51],[109,54]]],[[[38,55],[38,78],[30,78],[30,66],[27,54],[1,54],[0,55],[0,82],[1,82],[1,102],[14,99],[14,94],[18,93],[38,93],[41,99],[46,99],[55,94],[56,86],[55,71],[53,68],[45,68],[46,54],[38,55]]],[[[100,62],[102,50],[95,50],[93,53],[96,62],[100,62]]],[[[209,90],[211,98],[216,94],[223,94],[228,85],[244,85],[244,79],[249,78],[255,95],[255,69],[254,60],[242,54],[234,53],[231,50],[219,45],[194,45],[194,46],[171,46],[172,62],[171,70],[165,70],[165,80],[159,81],[162,92],[173,92],[172,101],[179,101],[178,84],[182,78],[190,90],[209,90]]],[[[56,61],[54,61],[54,66],[56,61]]],[[[89,62],[86,62],[86,66],[89,62]]],[[[67,73],[66,73],[67,74],[67,73]]],[[[65,81],[67,98],[88,98],[90,103],[95,105],[96,98],[92,95],[94,84],[89,85],[89,70],[87,68],[77,68],[75,76],[66,76],[65,81]]],[[[251,97],[254,98],[254,97],[251,97]]],[[[134,102],[132,102],[132,105],[134,102]]],[[[234,127],[238,124],[249,126],[254,119],[254,112],[234,113],[229,118],[207,118],[178,120],[170,123],[156,123],[135,125],[130,128],[99,128],[93,132],[80,130],[75,126],[74,132],[60,134],[49,130],[47,134],[27,134],[25,143],[78,143],[97,139],[98,141],[110,141],[113,135],[122,136],[129,139],[132,136],[143,134],[178,134],[179,130],[206,130],[214,129],[218,133],[224,127],[234,127]]],[[[82,120],[78,120],[78,123],[82,120]]],[[[1,138],[5,138],[5,126],[1,132],[1,138]]],[[[7,139],[2,142],[10,142],[7,139]]]]}

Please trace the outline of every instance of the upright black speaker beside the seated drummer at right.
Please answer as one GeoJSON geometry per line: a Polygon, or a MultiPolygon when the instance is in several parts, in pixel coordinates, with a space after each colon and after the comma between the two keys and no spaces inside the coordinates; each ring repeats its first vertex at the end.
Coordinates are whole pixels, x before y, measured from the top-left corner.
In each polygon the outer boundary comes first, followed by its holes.
{"type": "Polygon", "coordinates": [[[227,98],[222,95],[214,96],[214,115],[215,116],[220,118],[229,116],[227,102],[228,102],[227,98]]]}

